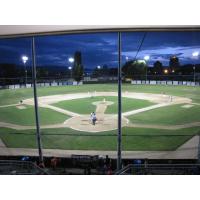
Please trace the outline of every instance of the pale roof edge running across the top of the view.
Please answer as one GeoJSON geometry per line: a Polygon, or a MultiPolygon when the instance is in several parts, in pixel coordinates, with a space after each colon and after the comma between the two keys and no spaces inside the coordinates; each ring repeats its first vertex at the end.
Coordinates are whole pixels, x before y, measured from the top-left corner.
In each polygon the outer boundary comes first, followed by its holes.
{"type": "Polygon", "coordinates": [[[1,25],[0,37],[31,36],[67,32],[117,30],[200,30],[200,26],[133,26],[133,25],[1,25]]]}

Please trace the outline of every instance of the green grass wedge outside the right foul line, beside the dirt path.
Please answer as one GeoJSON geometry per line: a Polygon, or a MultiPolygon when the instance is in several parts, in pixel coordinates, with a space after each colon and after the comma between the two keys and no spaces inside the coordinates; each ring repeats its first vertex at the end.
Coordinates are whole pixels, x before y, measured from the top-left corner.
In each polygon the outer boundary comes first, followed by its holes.
{"type": "Polygon", "coordinates": [[[200,105],[183,108],[185,104],[172,105],[129,116],[131,122],[141,124],[178,125],[200,121],[200,105]]]}

